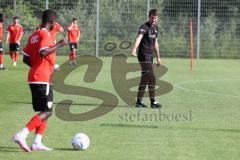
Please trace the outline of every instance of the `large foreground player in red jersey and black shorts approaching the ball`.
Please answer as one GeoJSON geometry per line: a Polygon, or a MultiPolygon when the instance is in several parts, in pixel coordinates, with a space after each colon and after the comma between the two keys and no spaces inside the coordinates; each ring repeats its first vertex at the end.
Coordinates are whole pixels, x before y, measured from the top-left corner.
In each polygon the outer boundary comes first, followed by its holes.
{"type": "Polygon", "coordinates": [[[42,14],[41,28],[30,35],[27,45],[23,49],[23,62],[30,66],[28,83],[32,93],[32,105],[34,111],[38,112],[21,131],[13,136],[13,140],[26,152],[52,150],[43,145],[41,140],[48,118],[52,115],[53,91],[51,77],[54,72],[56,51],[63,45],[68,44],[67,39],[54,43],[50,35],[56,18],[56,12],[45,10],[42,14]],[[30,149],[26,138],[34,130],[35,138],[30,149]]]}

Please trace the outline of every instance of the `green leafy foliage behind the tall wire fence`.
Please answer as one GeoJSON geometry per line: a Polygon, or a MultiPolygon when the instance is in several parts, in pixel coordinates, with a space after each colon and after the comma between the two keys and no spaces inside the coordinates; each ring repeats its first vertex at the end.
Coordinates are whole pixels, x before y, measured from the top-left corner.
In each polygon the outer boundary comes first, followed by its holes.
{"type": "MultiPolygon", "coordinates": [[[[157,8],[159,16],[160,51],[164,56],[189,56],[189,19],[193,17],[194,46],[196,50],[197,0],[150,0],[151,8],[157,8]]],[[[201,0],[201,56],[239,57],[240,2],[236,0],[201,0]]],[[[25,36],[39,24],[45,9],[44,1],[1,0],[1,12],[7,15],[5,27],[19,16],[25,28],[25,36]]],[[[72,18],[80,20],[81,37],[79,52],[94,54],[96,49],[95,0],[49,0],[49,8],[58,12],[58,21],[65,30],[72,18]]],[[[147,20],[146,0],[101,0],[99,14],[99,50],[107,54],[108,42],[119,44],[123,40],[134,41],[139,27],[147,20]]],[[[66,36],[66,32],[65,32],[66,36]]],[[[63,36],[59,36],[59,38],[63,36]]],[[[68,53],[68,49],[63,53],[68,53]]],[[[113,54],[113,53],[112,53],[113,54]]]]}

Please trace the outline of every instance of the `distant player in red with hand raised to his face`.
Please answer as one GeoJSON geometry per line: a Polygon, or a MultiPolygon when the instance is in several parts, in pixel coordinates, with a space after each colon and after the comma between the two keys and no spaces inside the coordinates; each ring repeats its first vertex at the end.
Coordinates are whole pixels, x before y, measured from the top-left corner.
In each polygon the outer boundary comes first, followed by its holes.
{"type": "Polygon", "coordinates": [[[77,43],[80,38],[80,27],[76,18],[72,19],[72,24],[68,26],[68,41],[70,47],[69,65],[77,65],[75,61],[77,43]]]}

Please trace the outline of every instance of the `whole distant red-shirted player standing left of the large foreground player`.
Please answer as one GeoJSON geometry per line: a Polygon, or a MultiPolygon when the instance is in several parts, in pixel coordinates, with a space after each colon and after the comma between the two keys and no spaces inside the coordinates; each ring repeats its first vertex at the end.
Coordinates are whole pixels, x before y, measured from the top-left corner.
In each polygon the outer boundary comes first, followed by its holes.
{"type": "Polygon", "coordinates": [[[10,38],[10,55],[13,60],[13,65],[17,65],[17,60],[19,56],[19,47],[20,41],[23,35],[23,27],[19,24],[19,18],[13,18],[13,24],[9,25],[7,28],[7,37],[6,37],[6,45],[8,44],[8,40],[10,38]]]}

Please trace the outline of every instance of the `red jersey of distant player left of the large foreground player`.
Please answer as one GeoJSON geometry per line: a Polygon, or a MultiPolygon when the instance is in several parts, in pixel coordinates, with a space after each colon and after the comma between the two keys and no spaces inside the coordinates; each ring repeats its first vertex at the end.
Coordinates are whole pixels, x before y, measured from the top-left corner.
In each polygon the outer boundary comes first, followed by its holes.
{"type": "Polygon", "coordinates": [[[11,24],[8,26],[7,31],[10,33],[10,43],[16,43],[24,30],[20,24],[11,24]]]}

